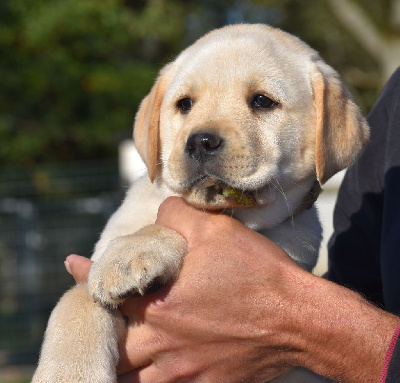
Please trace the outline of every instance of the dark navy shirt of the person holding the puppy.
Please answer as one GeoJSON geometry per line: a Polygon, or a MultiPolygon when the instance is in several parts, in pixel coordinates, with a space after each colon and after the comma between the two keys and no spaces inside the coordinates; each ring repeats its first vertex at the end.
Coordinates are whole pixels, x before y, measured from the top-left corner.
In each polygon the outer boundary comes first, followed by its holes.
{"type": "MultiPolygon", "coordinates": [[[[400,68],[386,84],[368,121],[370,142],[340,187],[327,276],[399,315],[400,68]]],[[[397,343],[387,383],[400,382],[397,343]]]]}

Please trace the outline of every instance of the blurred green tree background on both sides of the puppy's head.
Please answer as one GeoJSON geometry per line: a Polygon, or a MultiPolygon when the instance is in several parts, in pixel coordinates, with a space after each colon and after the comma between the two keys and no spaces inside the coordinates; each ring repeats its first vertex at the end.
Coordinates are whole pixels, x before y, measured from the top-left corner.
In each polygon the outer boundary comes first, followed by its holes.
{"type": "Polygon", "coordinates": [[[399,13],[398,0],[3,0],[0,164],[115,157],[158,69],[227,23],[265,22],[298,35],[368,112],[397,65],[385,63],[400,41],[399,13]],[[360,33],[346,24],[343,3],[364,21],[360,33]],[[385,51],[360,40],[367,29],[385,51]]]}

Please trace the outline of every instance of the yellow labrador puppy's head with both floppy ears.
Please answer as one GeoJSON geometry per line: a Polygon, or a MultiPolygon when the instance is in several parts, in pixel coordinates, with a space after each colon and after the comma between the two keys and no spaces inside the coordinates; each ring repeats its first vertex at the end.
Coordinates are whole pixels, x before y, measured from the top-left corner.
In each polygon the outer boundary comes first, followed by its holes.
{"type": "Polygon", "coordinates": [[[280,201],[294,211],[316,179],[352,163],[368,132],[314,50],[265,25],[237,25],[204,36],[161,71],[134,138],[151,180],[194,205],[280,201]]]}

